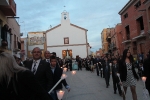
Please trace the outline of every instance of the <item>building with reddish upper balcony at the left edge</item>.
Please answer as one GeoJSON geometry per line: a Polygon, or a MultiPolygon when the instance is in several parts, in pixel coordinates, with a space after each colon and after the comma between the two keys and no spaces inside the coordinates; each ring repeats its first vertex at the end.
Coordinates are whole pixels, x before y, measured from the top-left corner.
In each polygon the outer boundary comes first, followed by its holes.
{"type": "Polygon", "coordinates": [[[16,21],[17,4],[14,0],[0,0],[0,46],[2,40],[7,40],[8,50],[13,55],[20,56],[21,42],[20,25],[16,21]],[[5,39],[4,36],[5,35],[5,39]]]}

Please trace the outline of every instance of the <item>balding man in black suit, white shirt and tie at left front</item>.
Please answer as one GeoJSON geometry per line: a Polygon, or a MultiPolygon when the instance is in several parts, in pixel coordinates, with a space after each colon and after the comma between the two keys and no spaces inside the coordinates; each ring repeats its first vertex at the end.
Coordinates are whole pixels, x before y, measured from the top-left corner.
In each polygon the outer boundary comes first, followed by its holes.
{"type": "Polygon", "coordinates": [[[42,52],[39,47],[33,49],[32,55],[33,60],[28,61],[25,67],[33,72],[41,86],[48,92],[53,86],[50,64],[41,59],[42,52]]]}

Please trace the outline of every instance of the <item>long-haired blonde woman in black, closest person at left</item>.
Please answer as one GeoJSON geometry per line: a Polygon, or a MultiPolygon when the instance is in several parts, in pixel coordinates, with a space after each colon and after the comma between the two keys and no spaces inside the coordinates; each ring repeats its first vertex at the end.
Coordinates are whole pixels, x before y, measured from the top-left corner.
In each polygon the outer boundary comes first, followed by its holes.
{"type": "Polygon", "coordinates": [[[0,100],[51,100],[34,75],[14,57],[0,53],[0,100]]]}

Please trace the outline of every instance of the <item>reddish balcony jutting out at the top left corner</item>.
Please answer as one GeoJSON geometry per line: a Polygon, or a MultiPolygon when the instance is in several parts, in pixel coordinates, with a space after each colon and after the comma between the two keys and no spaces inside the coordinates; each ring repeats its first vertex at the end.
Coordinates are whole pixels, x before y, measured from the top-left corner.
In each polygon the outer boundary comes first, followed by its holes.
{"type": "Polygon", "coordinates": [[[5,16],[16,16],[16,3],[14,0],[0,0],[0,10],[5,16]]]}

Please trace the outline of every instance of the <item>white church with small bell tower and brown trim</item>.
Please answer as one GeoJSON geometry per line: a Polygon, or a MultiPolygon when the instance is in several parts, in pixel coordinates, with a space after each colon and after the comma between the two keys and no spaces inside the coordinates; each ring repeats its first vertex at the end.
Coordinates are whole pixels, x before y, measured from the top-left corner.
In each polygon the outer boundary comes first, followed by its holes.
{"type": "Polygon", "coordinates": [[[46,31],[47,50],[60,58],[69,56],[85,58],[89,55],[87,29],[70,23],[69,13],[61,13],[61,24],[46,31]]]}

